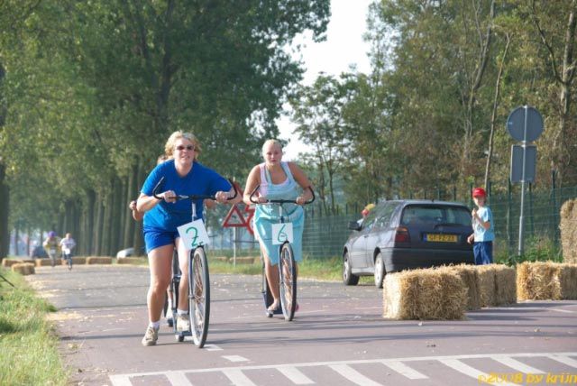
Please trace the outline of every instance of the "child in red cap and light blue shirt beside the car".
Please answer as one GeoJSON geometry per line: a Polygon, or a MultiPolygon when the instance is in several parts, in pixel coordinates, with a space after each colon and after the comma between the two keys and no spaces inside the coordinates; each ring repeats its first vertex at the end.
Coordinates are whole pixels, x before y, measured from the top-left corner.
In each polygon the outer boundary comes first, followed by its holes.
{"type": "Polygon", "coordinates": [[[472,189],[472,199],[478,208],[473,208],[472,230],[473,233],[467,238],[469,244],[473,244],[472,252],[475,256],[475,264],[490,264],[493,262],[493,214],[487,207],[487,193],[483,188],[472,189]]]}

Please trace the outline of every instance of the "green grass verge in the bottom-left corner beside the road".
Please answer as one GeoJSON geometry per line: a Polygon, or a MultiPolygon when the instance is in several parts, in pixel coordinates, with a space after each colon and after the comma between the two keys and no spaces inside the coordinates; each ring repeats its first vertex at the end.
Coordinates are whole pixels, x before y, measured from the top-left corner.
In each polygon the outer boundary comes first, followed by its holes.
{"type": "Polygon", "coordinates": [[[59,337],[45,316],[56,308],[39,299],[20,274],[0,269],[0,384],[66,385],[59,337]]]}

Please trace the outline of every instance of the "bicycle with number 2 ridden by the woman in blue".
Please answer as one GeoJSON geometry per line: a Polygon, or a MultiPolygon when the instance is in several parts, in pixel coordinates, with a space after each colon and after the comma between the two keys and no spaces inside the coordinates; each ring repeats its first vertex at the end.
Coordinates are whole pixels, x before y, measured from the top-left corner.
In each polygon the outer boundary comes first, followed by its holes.
{"type": "MultiPolygon", "coordinates": [[[[162,200],[158,196],[158,190],[164,178],[160,179],[158,184],[152,190],[152,195],[154,198],[162,200]]],[[[232,187],[234,183],[229,179],[232,187]]],[[[227,198],[227,200],[232,200],[236,198],[238,192],[234,188],[234,196],[227,198]]],[[[175,200],[190,199],[192,201],[198,199],[212,199],[215,200],[215,196],[207,195],[176,195],[175,200]]],[[[197,207],[192,205],[192,221],[197,219],[197,207]]],[[[172,257],[172,279],[170,280],[170,289],[172,296],[172,316],[173,323],[172,327],[174,329],[175,337],[177,341],[184,341],[185,336],[192,335],[193,343],[198,348],[203,348],[206,343],[206,336],[208,335],[208,324],[210,319],[210,280],[208,274],[208,261],[206,259],[205,247],[204,245],[197,244],[193,249],[190,250],[188,254],[188,331],[178,331],[176,316],[177,307],[179,305],[179,285],[180,279],[182,277],[182,272],[179,268],[179,256],[178,253],[174,253],[172,257]]]]}

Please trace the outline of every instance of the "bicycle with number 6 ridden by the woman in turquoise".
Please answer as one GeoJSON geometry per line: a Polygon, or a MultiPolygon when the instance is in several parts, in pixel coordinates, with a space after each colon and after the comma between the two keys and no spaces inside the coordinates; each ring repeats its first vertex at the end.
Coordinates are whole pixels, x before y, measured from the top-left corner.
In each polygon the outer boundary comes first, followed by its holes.
{"type": "MultiPolygon", "coordinates": [[[[289,225],[290,223],[285,222],[285,216],[283,216],[283,204],[297,204],[296,200],[292,199],[267,199],[265,202],[260,203],[255,201],[254,195],[257,190],[260,188],[260,185],[254,188],[251,193],[250,200],[253,204],[256,205],[266,205],[266,204],[279,204],[279,224],[289,225]]],[[[315,201],[315,191],[308,187],[310,192],[313,195],[309,201],[305,203],[311,204],[315,201]]],[[[298,205],[298,204],[297,204],[298,205]]],[[[282,235],[282,230],[284,227],[281,227],[279,230],[279,236],[282,235]]],[[[269,307],[272,304],[272,297],[270,294],[270,287],[268,280],[266,280],[265,276],[265,265],[264,259],[261,256],[262,262],[262,296],[264,299],[264,306],[266,309],[267,317],[272,317],[275,313],[280,313],[280,311],[269,311],[269,307]]],[[[289,240],[285,237],[284,242],[279,244],[279,294],[280,294],[280,310],[285,317],[285,320],[291,321],[295,317],[295,311],[297,309],[297,266],[295,265],[295,256],[292,251],[292,246],[290,245],[289,240]]]]}

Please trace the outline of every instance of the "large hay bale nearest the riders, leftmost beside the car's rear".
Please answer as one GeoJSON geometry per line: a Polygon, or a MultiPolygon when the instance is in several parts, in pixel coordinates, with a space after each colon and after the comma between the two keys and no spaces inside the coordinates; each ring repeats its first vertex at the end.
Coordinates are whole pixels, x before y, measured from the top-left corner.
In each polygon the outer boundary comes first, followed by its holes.
{"type": "Polygon", "coordinates": [[[451,268],[389,273],[383,285],[383,317],[463,319],[467,289],[451,268]]]}

